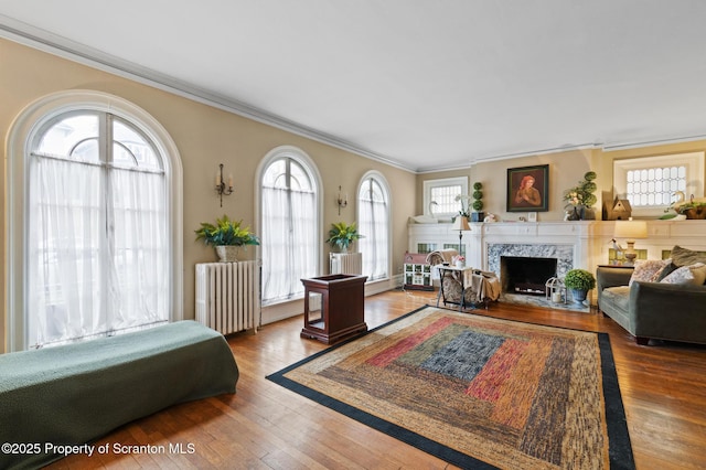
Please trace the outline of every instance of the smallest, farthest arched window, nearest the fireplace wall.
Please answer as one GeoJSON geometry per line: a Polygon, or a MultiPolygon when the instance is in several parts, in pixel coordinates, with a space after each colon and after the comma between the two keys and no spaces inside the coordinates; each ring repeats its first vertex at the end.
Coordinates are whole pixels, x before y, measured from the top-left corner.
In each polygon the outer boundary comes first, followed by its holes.
{"type": "Polygon", "coordinates": [[[389,277],[389,191],[382,174],[368,172],[361,182],[357,201],[359,249],[367,280],[389,277]]]}

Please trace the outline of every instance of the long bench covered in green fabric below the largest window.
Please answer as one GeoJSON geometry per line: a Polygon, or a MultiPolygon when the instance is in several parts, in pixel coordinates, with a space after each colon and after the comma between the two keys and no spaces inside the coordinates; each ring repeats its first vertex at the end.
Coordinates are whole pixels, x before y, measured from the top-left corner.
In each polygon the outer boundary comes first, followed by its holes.
{"type": "Polygon", "coordinates": [[[222,334],[180,321],[75,344],[0,355],[0,468],[38,468],[171,405],[235,393],[222,334]],[[34,448],[19,445],[34,445],[34,448]],[[39,446],[36,446],[39,445],[39,446]],[[9,451],[8,451],[9,450],[9,451]],[[39,450],[34,452],[34,450],[39,450]]]}

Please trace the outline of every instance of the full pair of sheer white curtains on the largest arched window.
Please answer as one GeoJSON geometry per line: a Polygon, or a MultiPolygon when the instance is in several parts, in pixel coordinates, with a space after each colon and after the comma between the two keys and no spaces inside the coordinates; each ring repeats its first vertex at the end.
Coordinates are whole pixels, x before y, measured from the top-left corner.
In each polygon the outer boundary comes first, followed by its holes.
{"type": "Polygon", "coordinates": [[[168,320],[163,186],[162,174],[31,157],[30,348],[168,320]]]}

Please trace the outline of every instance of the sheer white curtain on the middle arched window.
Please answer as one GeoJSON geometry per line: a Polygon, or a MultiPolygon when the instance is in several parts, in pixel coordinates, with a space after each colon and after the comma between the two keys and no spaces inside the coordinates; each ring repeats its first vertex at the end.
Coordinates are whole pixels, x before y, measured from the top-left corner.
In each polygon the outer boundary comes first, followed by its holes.
{"type": "Polygon", "coordinates": [[[317,275],[317,214],[312,191],[263,188],[263,301],[303,295],[317,275]]]}

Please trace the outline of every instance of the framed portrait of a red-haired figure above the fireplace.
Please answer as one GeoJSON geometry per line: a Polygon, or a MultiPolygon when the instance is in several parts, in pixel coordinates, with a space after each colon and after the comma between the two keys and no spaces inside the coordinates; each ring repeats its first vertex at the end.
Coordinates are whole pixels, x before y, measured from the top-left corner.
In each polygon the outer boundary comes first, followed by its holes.
{"type": "Polygon", "coordinates": [[[507,212],[549,210],[549,165],[507,169],[507,212]]]}

